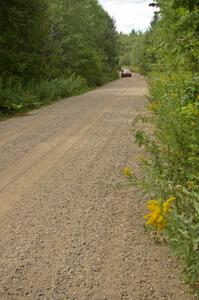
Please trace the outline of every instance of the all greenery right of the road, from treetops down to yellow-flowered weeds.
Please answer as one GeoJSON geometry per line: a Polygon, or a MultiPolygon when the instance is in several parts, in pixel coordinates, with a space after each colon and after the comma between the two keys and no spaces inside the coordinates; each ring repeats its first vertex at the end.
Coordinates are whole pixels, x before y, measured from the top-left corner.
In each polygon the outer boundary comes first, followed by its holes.
{"type": "Polygon", "coordinates": [[[153,128],[135,132],[146,153],[142,175],[125,173],[153,199],[147,225],[160,238],[164,231],[186,280],[199,290],[199,1],[150,5],[157,7],[150,29],[119,36],[126,46],[120,62],[148,78],[148,113],[138,122],[153,128]]]}

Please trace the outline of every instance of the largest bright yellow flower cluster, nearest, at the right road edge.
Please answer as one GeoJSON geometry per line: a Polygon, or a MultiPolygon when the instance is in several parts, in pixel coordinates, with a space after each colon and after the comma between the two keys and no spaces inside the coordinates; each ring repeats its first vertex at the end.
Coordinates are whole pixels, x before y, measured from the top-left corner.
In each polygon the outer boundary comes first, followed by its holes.
{"type": "Polygon", "coordinates": [[[151,212],[144,216],[144,219],[148,219],[146,224],[154,225],[159,231],[163,230],[166,225],[167,214],[171,211],[174,199],[174,197],[170,197],[162,204],[159,200],[149,200],[147,208],[151,212]]]}

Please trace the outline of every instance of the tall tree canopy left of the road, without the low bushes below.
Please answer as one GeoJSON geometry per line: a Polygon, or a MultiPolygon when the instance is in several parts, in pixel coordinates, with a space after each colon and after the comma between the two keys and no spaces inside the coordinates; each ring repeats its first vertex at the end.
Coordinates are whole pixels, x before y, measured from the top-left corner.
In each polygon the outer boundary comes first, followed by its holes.
{"type": "Polygon", "coordinates": [[[96,0],[1,0],[3,79],[76,73],[90,85],[117,68],[115,25],[96,0]]]}

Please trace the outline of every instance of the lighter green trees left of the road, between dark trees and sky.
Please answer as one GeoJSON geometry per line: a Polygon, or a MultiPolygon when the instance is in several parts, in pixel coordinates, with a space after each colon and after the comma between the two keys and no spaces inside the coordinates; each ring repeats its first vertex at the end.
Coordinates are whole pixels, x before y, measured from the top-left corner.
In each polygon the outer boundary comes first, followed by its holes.
{"type": "Polygon", "coordinates": [[[116,31],[97,1],[55,1],[50,4],[50,18],[51,66],[82,75],[90,85],[112,77],[117,68],[116,31]]]}

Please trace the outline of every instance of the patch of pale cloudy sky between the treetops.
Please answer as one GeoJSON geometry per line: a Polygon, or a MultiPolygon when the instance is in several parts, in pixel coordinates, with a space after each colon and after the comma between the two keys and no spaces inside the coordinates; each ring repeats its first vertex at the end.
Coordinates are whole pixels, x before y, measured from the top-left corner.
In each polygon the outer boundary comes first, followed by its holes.
{"type": "Polygon", "coordinates": [[[132,29],[145,31],[153,18],[152,0],[99,0],[99,3],[116,21],[118,32],[130,33],[132,29]]]}

